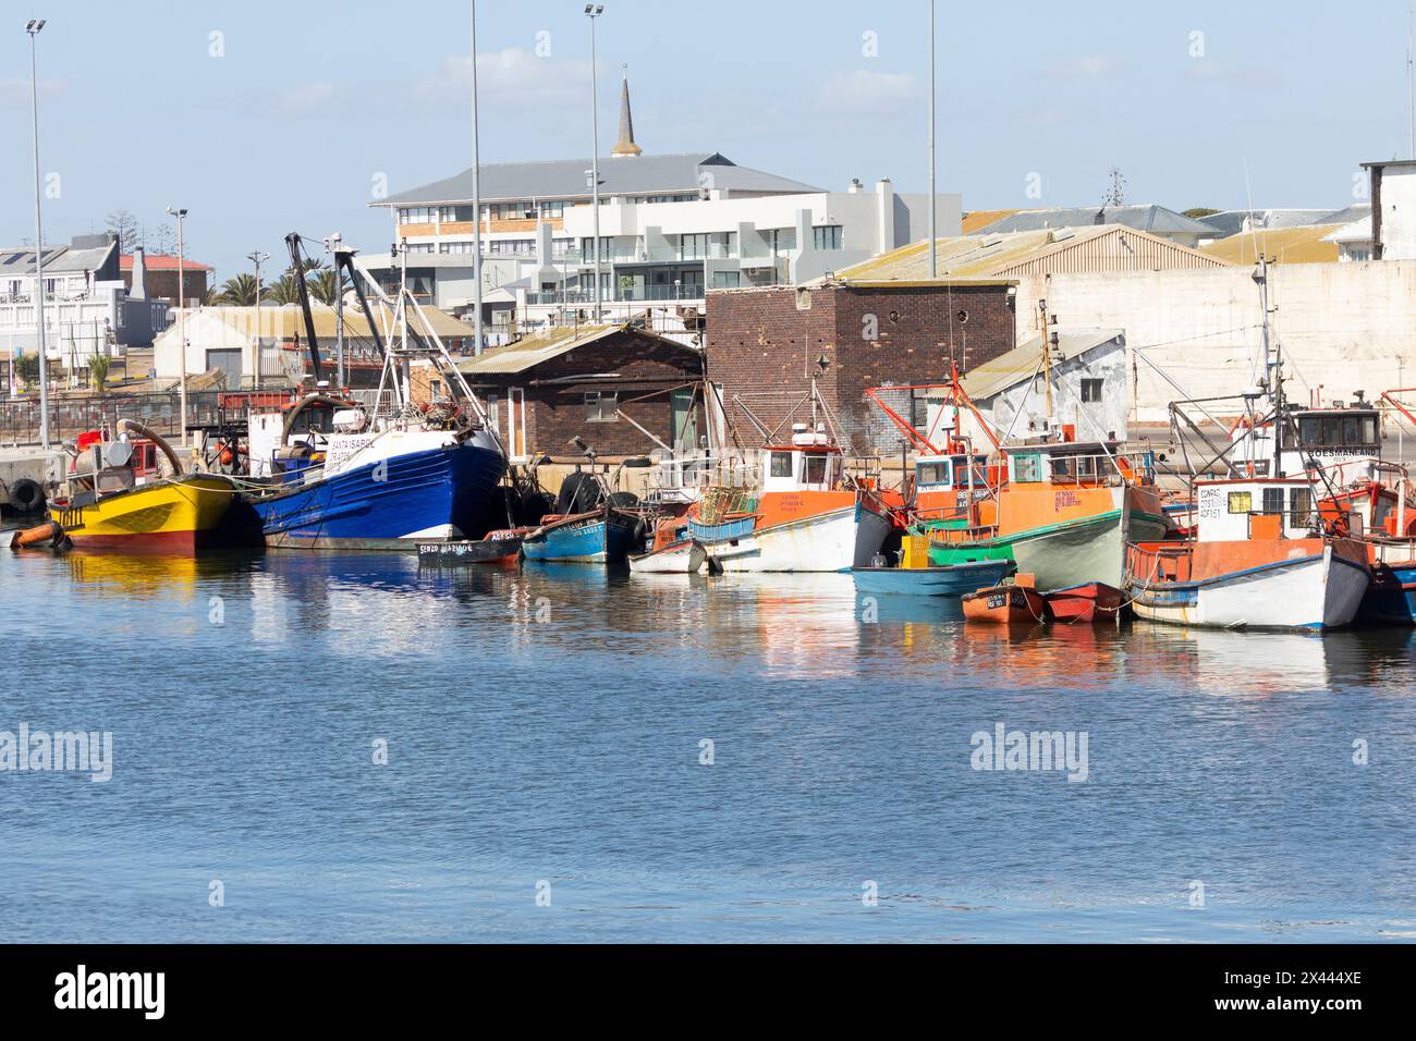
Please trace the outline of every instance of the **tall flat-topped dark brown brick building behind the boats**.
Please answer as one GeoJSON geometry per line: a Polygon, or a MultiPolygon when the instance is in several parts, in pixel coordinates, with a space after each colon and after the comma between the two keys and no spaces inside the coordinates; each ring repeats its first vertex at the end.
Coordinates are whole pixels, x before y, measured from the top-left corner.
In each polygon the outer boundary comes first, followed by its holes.
{"type": "MultiPolygon", "coordinates": [[[[926,384],[1014,347],[1014,282],[837,282],[708,293],[708,375],[729,419],[753,436],[743,406],[767,428],[783,422],[817,374],[843,448],[895,456],[901,435],[865,398],[868,387],[926,384]]],[[[923,425],[923,392],[882,394],[923,425]]],[[[797,412],[796,419],[809,414],[797,412]]]]}

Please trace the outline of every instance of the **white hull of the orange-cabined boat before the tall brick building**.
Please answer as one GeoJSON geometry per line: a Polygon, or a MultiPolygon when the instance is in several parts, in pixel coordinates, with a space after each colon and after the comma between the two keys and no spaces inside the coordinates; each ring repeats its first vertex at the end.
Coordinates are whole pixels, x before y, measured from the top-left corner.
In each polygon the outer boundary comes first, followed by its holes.
{"type": "Polygon", "coordinates": [[[724,527],[691,525],[711,571],[820,572],[850,571],[869,564],[885,542],[891,521],[857,501],[780,524],[743,525],[741,534],[728,533],[724,538],[701,537],[724,527]]]}

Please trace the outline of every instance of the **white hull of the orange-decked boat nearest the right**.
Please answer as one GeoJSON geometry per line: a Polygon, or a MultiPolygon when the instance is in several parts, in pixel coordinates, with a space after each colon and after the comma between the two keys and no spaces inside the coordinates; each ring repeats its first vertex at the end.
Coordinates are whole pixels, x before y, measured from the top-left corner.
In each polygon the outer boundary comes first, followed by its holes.
{"type": "Polygon", "coordinates": [[[1136,616],[1151,622],[1321,630],[1351,623],[1369,584],[1365,564],[1324,545],[1194,581],[1157,582],[1137,574],[1129,593],[1136,616]]]}

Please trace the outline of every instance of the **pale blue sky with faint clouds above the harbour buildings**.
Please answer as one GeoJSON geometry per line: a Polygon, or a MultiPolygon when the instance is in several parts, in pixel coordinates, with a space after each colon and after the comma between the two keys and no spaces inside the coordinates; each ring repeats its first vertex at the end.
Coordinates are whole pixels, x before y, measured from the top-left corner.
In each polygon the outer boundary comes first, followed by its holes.
{"type": "MultiPolygon", "coordinates": [[[[582,8],[480,3],[484,161],[589,153],[582,8]]],[[[101,231],[118,208],[156,224],[174,204],[191,211],[188,255],[218,278],[253,248],[282,258],[292,228],[381,251],[389,225],[367,207],[379,174],[401,191],[470,164],[462,0],[6,10],[4,244],[34,235],[31,16],[50,21],[41,167],[59,176],[59,197],[45,201],[47,241],[101,231]]],[[[823,187],[889,176],[923,190],[926,11],[926,0],[607,0],[602,149],[627,62],[646,152],[718,150],[823,187]]],[[[1409,147],[1402,0],[940,0],[937,47],[939,188],[969,210],[1090,205],[1113,166],[1129,201],[1242,207],[1246,159],[1255,205],[1338,208],[1358,163],[1409,147]],[[1034,173],[1041,200],[1025,195],[1034,173]]]]}

